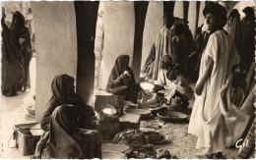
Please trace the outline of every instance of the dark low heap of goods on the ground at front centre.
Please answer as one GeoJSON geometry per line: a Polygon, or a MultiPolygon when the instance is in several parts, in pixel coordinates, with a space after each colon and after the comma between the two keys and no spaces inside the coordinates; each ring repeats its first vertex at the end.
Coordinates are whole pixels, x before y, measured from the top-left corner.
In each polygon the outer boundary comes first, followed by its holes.
{"type": "Polygon", "coordinates": [[[125,144],[132,148],[148,143],[147,138],[140,130],[125,130],[117,133],[113,139],[114,143],[125,144]]]}

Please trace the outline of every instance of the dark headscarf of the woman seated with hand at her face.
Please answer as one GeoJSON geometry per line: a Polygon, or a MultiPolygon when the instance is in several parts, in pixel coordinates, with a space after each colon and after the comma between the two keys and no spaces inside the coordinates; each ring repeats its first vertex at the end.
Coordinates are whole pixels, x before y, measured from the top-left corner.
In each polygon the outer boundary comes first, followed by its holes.
{"type": "Polygon", "coordinates": [[[114,67],[112,68],[109,79],[107,81],[106,90],[109,90],[113,81],[120,77],[124,73],[124,71],[126,71],[129,65],[129,59],[130,57],[128,55],[120,55],[117,57],[114,67]]]}

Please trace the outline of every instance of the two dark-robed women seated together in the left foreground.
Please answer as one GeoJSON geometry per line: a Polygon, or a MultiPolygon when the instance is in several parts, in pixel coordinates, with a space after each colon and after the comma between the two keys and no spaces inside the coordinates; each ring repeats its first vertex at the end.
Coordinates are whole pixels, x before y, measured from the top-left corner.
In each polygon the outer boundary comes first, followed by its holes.
{"type": "Polygon", "coordinates": [[[60,75],[51,83],[52,97],[40,122],[45,132],[34,158],[101,158],[100,136],[93,129],[94,109],[75,93],[75,79],[60,75]]]}

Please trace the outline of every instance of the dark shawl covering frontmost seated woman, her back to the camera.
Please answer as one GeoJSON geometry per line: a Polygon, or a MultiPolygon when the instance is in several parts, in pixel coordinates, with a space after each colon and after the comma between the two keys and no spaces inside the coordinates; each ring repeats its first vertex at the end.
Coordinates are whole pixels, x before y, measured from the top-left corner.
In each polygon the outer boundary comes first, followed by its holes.
{"type": "Polygon", "coordinates": [[[51,115],[47,141],[41,150],[42,159],[101,158],[98,134],[79,132],[80,111],[76,106],[62,105],[51,115]]]}

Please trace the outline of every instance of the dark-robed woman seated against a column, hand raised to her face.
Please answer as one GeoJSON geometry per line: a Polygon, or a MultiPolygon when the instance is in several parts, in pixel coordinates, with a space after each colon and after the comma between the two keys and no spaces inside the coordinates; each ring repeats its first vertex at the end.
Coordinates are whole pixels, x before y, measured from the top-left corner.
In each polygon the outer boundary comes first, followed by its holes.
{"type": "Polygon", "coordinates": [[[135,82],[132,69],[128,67],[129,59],[130,57],[128,55],[117,57],[107,81],[106,91],[110,92],[110,88],[114,88],[115,86],[126,85],[127,92],[125,100],[137,103],[139,87],[135,82]]]}

